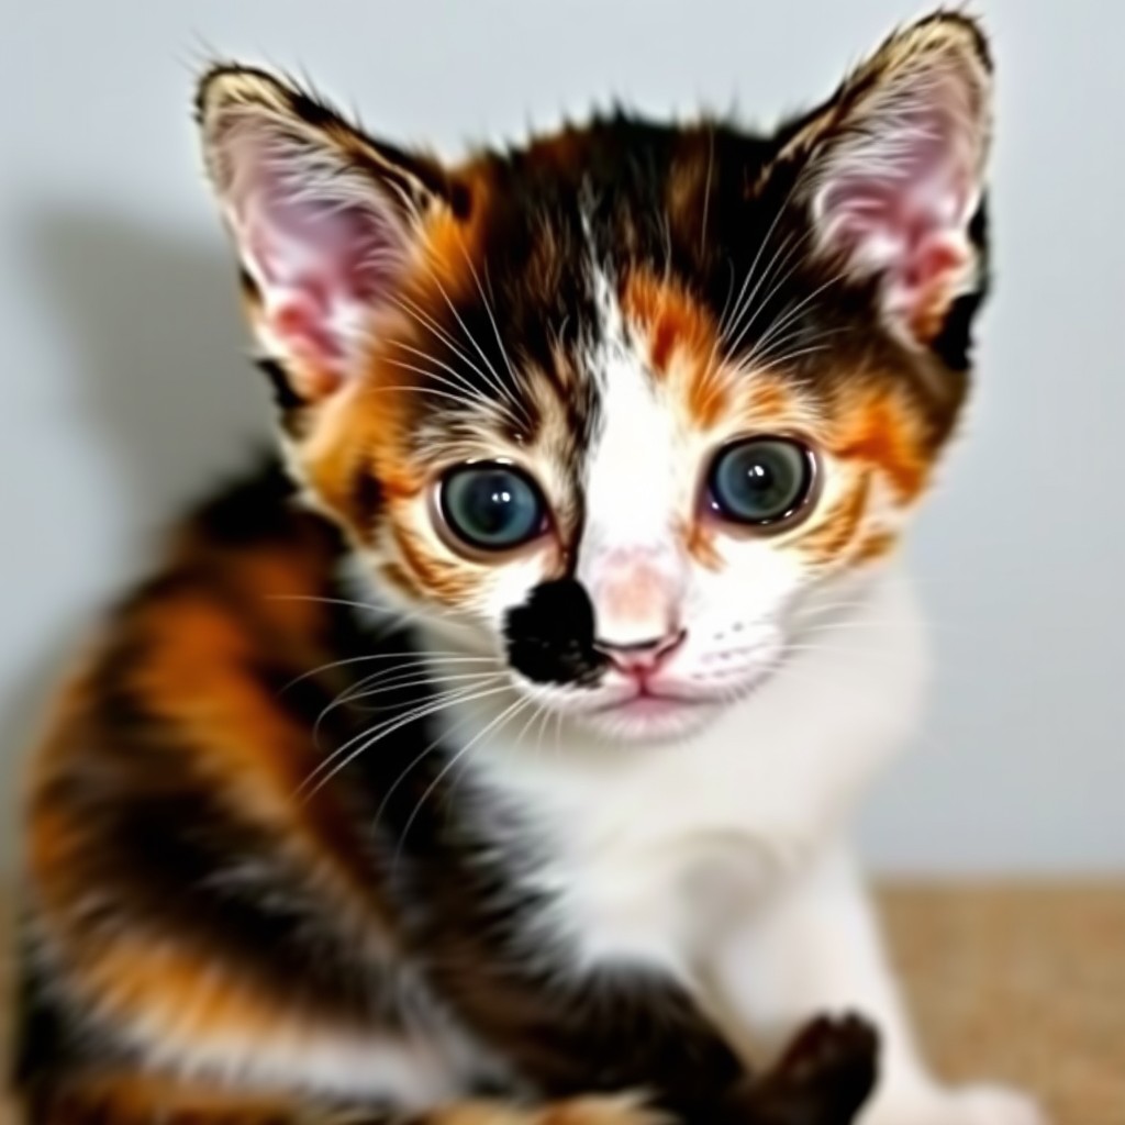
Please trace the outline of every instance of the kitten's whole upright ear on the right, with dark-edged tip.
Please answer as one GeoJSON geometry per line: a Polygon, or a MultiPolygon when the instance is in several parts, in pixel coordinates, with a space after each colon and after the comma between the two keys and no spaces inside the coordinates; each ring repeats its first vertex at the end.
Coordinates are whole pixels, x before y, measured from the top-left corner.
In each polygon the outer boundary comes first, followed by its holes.
{"type": "Polygon", "coordinates": [[[821,252],[879,278],[884,316],[929,342],[981,287],[972,222],[991,136],[988,47],[948,14],[893,35],[795,138],[821,252]]]}

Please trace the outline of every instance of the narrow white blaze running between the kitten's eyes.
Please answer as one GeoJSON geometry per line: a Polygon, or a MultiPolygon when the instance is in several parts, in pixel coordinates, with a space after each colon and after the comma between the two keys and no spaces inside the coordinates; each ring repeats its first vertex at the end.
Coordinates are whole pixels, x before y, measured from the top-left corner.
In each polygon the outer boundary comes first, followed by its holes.
{"type": "MultiPolygon", "coordinates": [[[[578,579],[594,597],[609,572],[622,567],[657,573],[669,590],[682,585],[685,560],[674,532],[676,512],[691,483],[677,479],[676,420],[660,402],[644,350],[630,332],[612,280],[594,276],[600,316],[597,344],[586,357],[601,390],[598,426],[586,461],[586,522],[578,546],[578,579]]],[[[652,605],[650,636],[665,628],[652,605]]],[[[644,632],[648,623],[634,622],[644,632]]],[[[648,637],[641,639],[648,639],[648,637]]]]}

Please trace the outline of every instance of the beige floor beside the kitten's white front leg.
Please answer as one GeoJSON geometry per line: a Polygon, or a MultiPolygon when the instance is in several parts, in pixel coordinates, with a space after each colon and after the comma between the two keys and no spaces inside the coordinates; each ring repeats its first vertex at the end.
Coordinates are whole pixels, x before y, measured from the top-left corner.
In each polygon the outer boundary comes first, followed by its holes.
{"type": "Polygon", "coordinates": [[[1125,1125],[1125,882],[898,886],[884,902],[943,1073],[1028,1087],[1054,1125],[1125,1125]]]}

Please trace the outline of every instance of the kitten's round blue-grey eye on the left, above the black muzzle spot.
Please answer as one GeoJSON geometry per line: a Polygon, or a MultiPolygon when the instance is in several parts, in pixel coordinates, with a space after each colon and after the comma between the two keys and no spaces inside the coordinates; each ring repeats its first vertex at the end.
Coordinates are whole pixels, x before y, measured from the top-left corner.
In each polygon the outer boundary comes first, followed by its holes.
{"type": "Polygon", "coordinates": [[[480,551],[511,550],[547,526],[542,493],[530,477],[508,465],[464,465],[447,472],[439,507],[449,531],[480,551]]]}

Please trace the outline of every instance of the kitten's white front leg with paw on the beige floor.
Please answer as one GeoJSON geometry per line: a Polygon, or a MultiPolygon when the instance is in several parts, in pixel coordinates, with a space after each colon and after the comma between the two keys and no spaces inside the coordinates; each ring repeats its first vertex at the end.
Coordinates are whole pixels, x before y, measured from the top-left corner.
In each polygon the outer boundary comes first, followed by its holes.
{"type": "Polygon", "coordinates": [[[716,986],[737,1029],[780,1043],[820,1011],[857,1011],[880,1032],[880,1079],[862,1125],[1037,1125],[1004,1089],[947,1089],[922,1062],[868,897],[852,856],[826,853],[736,930],[716,986]]]}

